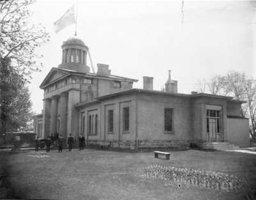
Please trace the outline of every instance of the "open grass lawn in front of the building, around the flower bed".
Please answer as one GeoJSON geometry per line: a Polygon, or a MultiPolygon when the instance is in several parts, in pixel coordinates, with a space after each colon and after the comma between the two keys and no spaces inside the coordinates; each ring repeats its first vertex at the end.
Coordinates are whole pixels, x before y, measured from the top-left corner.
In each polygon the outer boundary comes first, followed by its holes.
{"type": "MultiPolygon", "coordinates": [[[[225,151],[171,151],[170,160],[152,152],[52,150],[50,157],[28,152],[0,153],[0,186],[17,199],[241,199],[239,192],[221,192],[195,185],[167,183],[143,176],[149,164],[193,167],[234,174],[256,185],[256,155],[225,151]]],[[[0,190],[1,191],[1,190],[0,190]]],[[[3,191],[3,190],[2,190],[3,191]]]]}

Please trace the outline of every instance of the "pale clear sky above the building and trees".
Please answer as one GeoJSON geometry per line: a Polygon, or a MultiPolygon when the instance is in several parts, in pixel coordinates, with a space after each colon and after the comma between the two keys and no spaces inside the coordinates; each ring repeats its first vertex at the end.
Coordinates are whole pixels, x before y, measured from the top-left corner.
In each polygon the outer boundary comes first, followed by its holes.
{"type": "Polygon", "coordinates": [[[184,0],[182,20],[182,1],[37,0],[31,20],[45,26],[51,40],[36,50],[44,55],[44,68],[29,85],[36,113],[43,109],[39,86],[61,64],[61,44],[75,32],[73,24],[54,33],[53,23],[76,2],[77,36],[89,47],[95,71],[97,63],[107,64],[114,75],[138,79],[134,88],[150,76],[160,90],[167,70],[179,93],[229,70],[256,77],[256,1],[184,0]]]}

